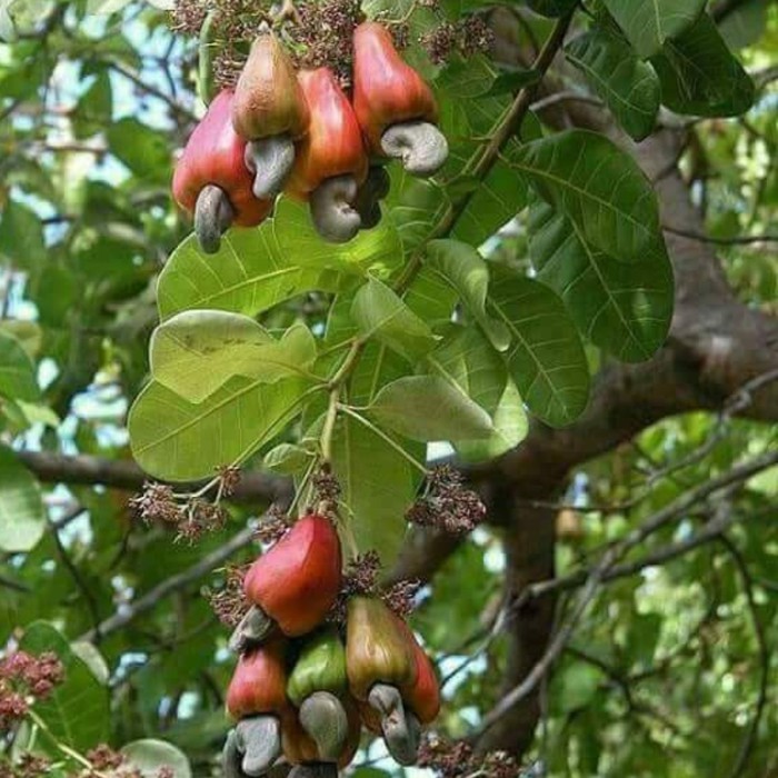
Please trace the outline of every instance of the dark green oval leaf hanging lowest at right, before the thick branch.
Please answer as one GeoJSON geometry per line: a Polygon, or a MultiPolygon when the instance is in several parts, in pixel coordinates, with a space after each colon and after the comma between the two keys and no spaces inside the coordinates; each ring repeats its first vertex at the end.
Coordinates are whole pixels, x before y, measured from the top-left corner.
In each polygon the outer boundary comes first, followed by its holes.
{"type": "Polygon", "coordinates": [[[492,285],[489,310],[512,335],[508,371],[529,409],[552,427],[575,421],[589,397],[589,369],[562,301],[538,281],[506,275],[492,285]]]}

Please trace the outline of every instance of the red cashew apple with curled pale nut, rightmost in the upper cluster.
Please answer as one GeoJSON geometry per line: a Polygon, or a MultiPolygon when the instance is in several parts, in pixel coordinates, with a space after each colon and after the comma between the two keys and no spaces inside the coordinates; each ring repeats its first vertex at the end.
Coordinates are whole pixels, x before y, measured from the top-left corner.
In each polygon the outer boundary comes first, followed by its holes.
{"type": "Polygon", "coordinates": [[[400,159],[418,176],[446,162],[448,143],[436,127],[432,90],[375,21],[353,33],[353,109],[372,153],[400,159]]]}

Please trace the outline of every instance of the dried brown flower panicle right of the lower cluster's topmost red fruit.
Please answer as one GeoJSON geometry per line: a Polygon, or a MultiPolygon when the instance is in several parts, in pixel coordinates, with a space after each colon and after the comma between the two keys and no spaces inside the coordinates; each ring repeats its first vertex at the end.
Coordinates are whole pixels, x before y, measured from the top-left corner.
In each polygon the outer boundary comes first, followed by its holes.
{"type": "Polygon", "coordinates": [[[486,518],[480,497],[463,486],[460,472],[449,465],[437,467],[427,479],[425,493],[406,512],[406,519],[436,527],[451,535],[471,532],[486,518]]]}

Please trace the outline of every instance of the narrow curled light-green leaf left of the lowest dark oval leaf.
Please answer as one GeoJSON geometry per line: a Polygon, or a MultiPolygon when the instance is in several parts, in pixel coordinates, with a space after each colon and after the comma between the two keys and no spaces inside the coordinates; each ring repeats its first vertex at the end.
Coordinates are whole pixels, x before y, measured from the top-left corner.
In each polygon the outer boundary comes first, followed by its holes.
{"type": "Polygon", "coordinates": [[[505,351],[510,345],[508,328],[486,312],[489,269],[483,258],[476,249],[457,240],[430,241],[427,256],[430,267],[457,290],[491,345],[498,351],[505,351]]]}

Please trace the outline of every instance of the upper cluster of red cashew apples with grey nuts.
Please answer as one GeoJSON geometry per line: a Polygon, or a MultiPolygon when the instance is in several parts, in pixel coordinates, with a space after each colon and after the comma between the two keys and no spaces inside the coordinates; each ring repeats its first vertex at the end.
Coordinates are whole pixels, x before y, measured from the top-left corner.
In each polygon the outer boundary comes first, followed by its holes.
{"type": "Polygon", "coordinates": [[[431,89],[380,23],[353,32],[351,96],[328,67],[296,71],[263,26],[235,89],[215,98],[189,138],[173,197],[207,253],[231,226],[260,225],[281,193],[309,205],[325,240],[347,242],[380,221],[386,161],[416,176],[443,164],[437,116],[431,89]]]}

